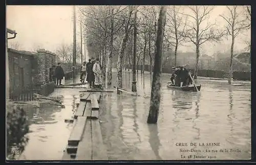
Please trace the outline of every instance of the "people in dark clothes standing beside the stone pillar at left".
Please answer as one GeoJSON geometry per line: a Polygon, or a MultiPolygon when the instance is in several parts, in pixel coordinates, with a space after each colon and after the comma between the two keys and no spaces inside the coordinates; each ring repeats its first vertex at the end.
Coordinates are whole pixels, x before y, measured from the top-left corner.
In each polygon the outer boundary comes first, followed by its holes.
{"type": "Polygon", "coordinates": [[[60,65],[60,63],[57,64],[57,66],[53,65],[50,68],[50,82],[54,81],[55,85],[59,86],[61,84],[61,80],[65,76],[65,73],[60,65]]]}

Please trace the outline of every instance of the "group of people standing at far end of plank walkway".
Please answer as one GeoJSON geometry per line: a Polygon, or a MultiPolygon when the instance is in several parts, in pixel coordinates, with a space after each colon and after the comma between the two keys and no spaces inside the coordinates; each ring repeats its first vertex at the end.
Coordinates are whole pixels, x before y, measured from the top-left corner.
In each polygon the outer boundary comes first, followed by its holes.
{"type": "Polygon", "coordinates": [[[80,80],[82,77],[86,76],[90,88],[102,89],[102,80],[101,80],[101,66],[99,64],[99,59],[94,58],[89,59],[89,62],[83,62],[80,67],[80,80]]]}

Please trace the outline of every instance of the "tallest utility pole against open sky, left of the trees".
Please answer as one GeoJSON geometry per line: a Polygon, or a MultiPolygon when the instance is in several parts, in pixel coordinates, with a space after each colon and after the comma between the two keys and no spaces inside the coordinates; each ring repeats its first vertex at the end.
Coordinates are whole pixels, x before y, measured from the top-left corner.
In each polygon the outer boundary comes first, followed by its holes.
{"type": "Polygon", "coordinates": [[[76,6],[73,6],[73,80],[75,80],[76,66],[76,6]]]}

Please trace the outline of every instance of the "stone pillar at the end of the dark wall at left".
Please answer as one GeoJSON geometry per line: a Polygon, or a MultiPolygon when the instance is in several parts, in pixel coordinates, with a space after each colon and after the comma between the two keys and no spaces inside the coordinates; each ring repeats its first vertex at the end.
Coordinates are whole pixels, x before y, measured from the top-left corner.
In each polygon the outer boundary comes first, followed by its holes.
{"type": "Polygon", "coordinates": [[[38,84],[46,84],[46,50],[37,50],[37,80],[38,84]]]}

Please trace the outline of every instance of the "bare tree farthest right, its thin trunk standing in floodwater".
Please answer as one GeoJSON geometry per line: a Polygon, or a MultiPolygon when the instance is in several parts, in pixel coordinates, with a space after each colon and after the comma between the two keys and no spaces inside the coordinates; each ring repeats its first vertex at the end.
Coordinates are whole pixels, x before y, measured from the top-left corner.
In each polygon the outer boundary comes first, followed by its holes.
{"type": "Polygon", "coordinates": [[[233,63],[233,48],[234,48],[234,41],[239,33],[248,28],[246,23],[246,19],[243,17],[243,10],[239,11],[238,6],[227,6],[229,14],[227,16],[220,15],[226,21],[226,30],[227,35],[231,36],[231,47],[230,47],[230,64],[229,64],[229,76],[228,76],[228,84],[231,84],[231,79],[233,75],[232,71],[232,63],[233,63]]]}

